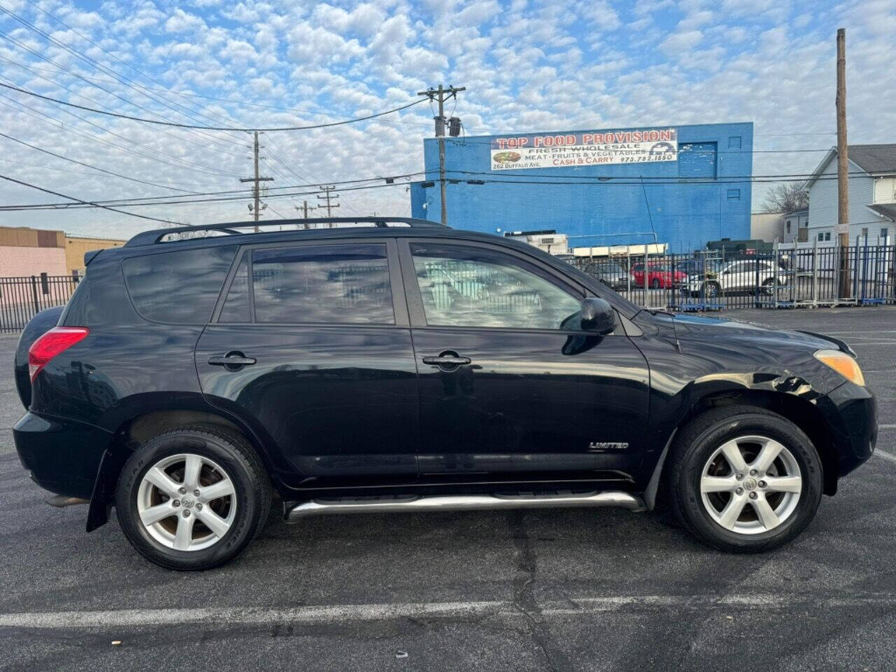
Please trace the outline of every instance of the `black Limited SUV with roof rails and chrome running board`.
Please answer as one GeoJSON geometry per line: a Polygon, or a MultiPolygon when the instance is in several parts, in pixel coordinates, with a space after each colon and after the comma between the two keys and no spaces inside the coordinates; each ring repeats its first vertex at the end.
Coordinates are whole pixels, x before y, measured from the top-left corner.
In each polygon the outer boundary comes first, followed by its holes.
{"type": "Polygon", "coordinates": [[[274,493],[287,521],[659,495],[702,541],[761,551],[874,451],[840,340],[642,310],[532,246],[422,220],[272,223],[296,229],[90,253],[22,335],[25,469],[90,499],[88,531],[114,505],[165,567],[236,556],[274,493]]]}

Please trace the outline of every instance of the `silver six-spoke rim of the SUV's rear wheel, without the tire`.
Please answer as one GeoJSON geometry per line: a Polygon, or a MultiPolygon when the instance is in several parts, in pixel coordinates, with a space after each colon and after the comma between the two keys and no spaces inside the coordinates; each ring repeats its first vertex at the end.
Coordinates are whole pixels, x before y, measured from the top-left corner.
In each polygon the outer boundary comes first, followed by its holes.
{"type": "Polygon", "coordinates": [[[143,529],[166,548],[198,551],[220,541],[237,516],[237,491],[209,458],[179,453],[159,460],[137,490],[143,529]]]}

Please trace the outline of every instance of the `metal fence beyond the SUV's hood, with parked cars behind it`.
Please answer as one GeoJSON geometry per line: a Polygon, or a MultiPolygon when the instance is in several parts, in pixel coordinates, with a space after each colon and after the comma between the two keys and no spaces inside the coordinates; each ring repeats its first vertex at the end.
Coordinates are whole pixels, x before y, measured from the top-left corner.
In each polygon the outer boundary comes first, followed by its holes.
{"type": "Polygon", "coordinates": [[[580,270],[647,308],[867,306],[896,303],[896,246],[773,246],[724,254],[573,257],[580,270]]]}

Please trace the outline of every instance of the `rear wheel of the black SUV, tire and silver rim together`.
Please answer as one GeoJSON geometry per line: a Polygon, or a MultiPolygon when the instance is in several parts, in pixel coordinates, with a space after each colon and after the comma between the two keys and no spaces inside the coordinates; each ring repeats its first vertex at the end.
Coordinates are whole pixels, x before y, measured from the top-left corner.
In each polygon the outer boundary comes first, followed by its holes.
{"type": "Polygon", "coordinates": [[[270,507],[270,482],[252,447],[219,426],[152,438],[125,463],[116,488],[125,536],[168,569],[228,562],[261,530],[270,507]]]}

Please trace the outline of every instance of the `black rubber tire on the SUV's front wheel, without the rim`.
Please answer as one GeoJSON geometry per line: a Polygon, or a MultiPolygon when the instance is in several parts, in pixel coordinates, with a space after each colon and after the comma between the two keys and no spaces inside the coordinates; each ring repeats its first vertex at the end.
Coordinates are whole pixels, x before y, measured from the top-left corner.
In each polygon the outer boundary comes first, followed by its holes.
{"type": "Polygon", "coordinates": [[[696,538],[719,550],[760,553],[786,544],[806,529],[822,498],[822,463],[809,437],[787,418],[766,409],[729,406],[703,413],[679,431],[669,458],[666,485],[676,518],[696,538]],[[754,534],[722,527],[703,505],[700,490],[703,468],[713,452],[745,435],[766,436],[782,444],[797,461],[802,478],[802,492],[788,518],[754,534]]]}

